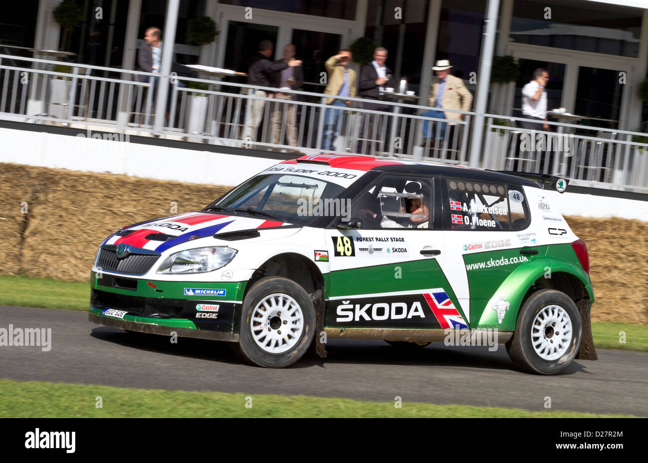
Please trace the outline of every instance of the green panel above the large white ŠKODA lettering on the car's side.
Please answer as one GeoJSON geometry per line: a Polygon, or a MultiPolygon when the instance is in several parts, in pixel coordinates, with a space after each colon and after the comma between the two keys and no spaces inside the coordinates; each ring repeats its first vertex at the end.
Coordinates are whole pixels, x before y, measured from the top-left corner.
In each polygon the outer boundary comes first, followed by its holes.
{"type": "Polygon", "coordinates": [[[330,272],[328,296],[354,296],[378,292],[417,291],[443,288],[464,320],[466,314],[436,259],[392,262],[372,267],[349,268],[330,272]],[[400,278],[395,278],[400,267],[400,278]]]}

